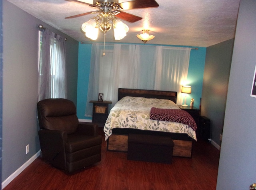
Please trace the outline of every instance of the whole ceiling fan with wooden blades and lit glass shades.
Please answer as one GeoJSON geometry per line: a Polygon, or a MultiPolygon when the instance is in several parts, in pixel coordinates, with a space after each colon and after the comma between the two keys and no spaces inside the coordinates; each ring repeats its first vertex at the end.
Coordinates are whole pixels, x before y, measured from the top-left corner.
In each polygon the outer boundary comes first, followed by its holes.
{"type": "MultiPolygon", "coordinates": [[[[82,24],[82,31],[85,32],[85,36],[92,40],[96,40],[98,38],[98,29],[102,30],[104,32],[104,36],[106,36],[106,32],[108,32],[112,27],[114,29],[115,40],[122,40],[126,36],[126,33],[128,32],[129,28],[126,24],[124,24],[118,18],[122,20],[126,20],[128,22],[136,22],[142,19],[139,16],[122,12],[122,10],[155,8],[159,6],[159,4],[155,0],[132,0],[132,1],[121,2],[121,3],[118,3],[118,0],[94,0],[93,4],[89,4],[79,0],[72,0],[72,1],[80,2],[82,4],[87,4],[91,7],[98,9],[98,11],[92,11],[92,12],[87,12],[87,13],[66,17],[66,18],[75,18],[78,16],[84,16],[87,14],[98,13],[97,16],[91,18],[89,21],[84,22],[84,24],[82,24]]],[[[151,39],[153,38],[151,37],[151,39]]],[[[104,38],[104,41],[105,41],[105,38],[104,38]]]]}

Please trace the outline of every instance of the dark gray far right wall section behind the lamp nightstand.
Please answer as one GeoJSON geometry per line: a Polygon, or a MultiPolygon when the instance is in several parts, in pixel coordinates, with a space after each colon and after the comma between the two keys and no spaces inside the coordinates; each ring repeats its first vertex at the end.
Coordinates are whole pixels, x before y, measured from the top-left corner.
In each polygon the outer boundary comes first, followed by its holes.
{"type": "Polygon", "coordinates": [[[221,145],[234,39],[206,48],[201,115],[211,122],[211,139],[221,145]]]}

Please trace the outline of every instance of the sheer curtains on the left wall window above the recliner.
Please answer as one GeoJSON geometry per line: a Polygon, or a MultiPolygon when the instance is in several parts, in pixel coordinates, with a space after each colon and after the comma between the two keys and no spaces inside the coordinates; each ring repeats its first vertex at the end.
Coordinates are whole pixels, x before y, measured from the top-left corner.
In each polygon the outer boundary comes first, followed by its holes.
{"type": "Polygon", "coordinates": [[[38,101],[48,98],[66,98],[65,68],[65,39],[46,28],[42,34],[38,68],[38,101]]]}

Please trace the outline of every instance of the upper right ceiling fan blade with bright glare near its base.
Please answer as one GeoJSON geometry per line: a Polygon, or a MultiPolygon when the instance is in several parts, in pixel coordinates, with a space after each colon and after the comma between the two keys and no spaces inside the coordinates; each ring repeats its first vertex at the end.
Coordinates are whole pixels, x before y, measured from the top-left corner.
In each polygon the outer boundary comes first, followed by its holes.
{"type": "Polygon", "coordinates": [[[155,0],[134,0],[119,3],[124,10],[139,9],[139,8],[154,8],[158,7],[159,4],[155,0]]]}

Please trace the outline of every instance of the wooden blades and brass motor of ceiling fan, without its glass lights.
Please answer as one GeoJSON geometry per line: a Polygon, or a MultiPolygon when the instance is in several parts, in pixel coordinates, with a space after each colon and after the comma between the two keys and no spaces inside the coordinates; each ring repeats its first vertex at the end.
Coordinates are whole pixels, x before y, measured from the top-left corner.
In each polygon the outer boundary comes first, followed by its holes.
{"type": "Polygon", "coordinates": [[[122,20],[126,20],[128,22],[136,22],[141,20],[142,18],[133,14],[129,14],[123,12],[122,10],[131,10],[131,9],[141,9],[141,8],[156,8],[159,4],[155,0],[131,0],[127,2],[118,3],[118,0],[93,0],[93,4],[87,3],[84,0],[68,0],[72,2],[78,2],[82,4],[89,5],[91,7],[95,7],[97,11],[86,12],[74,16],[66,17],[68,18],[76,18],[79,16],[84,16],[87,14],[108,14],[120,18],[122,20]]]}

